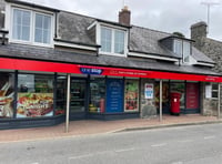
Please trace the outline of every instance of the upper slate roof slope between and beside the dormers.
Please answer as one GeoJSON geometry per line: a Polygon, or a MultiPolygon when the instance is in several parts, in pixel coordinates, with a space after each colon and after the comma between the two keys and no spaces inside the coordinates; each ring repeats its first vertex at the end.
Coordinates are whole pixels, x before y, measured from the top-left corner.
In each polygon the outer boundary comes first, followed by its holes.
{"type": "MultiPolygon", "coordinates": [[[[87,28],[98,19],[81,16],[72,12],[60,11],[59,13],[59,33],[62,40],[74,41],[97,45],[95,40],[90,37],[87,28]]],[[[117,22],[104,21],[117,24],[117,22]]],[[[171,33],[151,30],[142,27],[132,25],[130,28],[129,51],[144,54],[163,55],[169,58],[179,58],[175,53],[160,44],[160,40],[171,37],[171,33]]],[[[205,54],[192,48],[193,58],[200,62],[214,63],[205,54]]]]}

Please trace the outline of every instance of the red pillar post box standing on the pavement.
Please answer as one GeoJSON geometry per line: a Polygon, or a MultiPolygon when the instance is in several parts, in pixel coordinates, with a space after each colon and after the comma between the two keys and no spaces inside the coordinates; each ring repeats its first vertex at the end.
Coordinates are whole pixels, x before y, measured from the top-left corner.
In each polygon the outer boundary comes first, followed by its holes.
{"type": "Polygon", "coordinates": [[[171,114],[173,115],[180,115],[180,98],[181,93],[171,93],[171,114]]]}

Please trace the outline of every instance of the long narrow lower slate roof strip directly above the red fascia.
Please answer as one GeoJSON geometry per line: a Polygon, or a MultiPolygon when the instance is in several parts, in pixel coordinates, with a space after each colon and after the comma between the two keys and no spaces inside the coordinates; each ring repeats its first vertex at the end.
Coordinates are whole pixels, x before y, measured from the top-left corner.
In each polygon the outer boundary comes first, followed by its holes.
{"type": "Polygon", "coordinates": [[[73,53],[69,51],[54,50],[51,48],[27,47],[22,44],[0,45],[0,57],[10,57],[18,59],[43,60],[52,62],[65,62],[75,64],[89,64],[99,66],[118,66],[125,69],[141,69],[154,71],[168,71],[179,73],[194,73],[219,75],[210,68],[175,65],[169,62],[160,62],[149,59],[132,59],[111,55],[92,55],[73,53]]]}

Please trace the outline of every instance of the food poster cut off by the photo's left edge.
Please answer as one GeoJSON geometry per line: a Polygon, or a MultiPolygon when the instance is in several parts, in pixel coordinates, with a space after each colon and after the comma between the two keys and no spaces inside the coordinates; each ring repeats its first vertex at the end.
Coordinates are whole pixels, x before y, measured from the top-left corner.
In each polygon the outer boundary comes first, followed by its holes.
{"type": "Polygon", "coordinates": [[[0,119],[13,116],[13,92],[9,82],[0,83],[0,119]]]}

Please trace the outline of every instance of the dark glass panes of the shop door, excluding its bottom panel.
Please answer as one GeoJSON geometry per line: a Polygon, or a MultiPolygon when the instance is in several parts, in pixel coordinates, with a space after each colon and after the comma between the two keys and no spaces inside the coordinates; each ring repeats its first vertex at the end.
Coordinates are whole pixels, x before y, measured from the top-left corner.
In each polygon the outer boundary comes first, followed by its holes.
{"type": "Polygon", "coordinates": [[[70,84],[70,112],[85,111],[85,80],[71,80],[70,84]]]}

